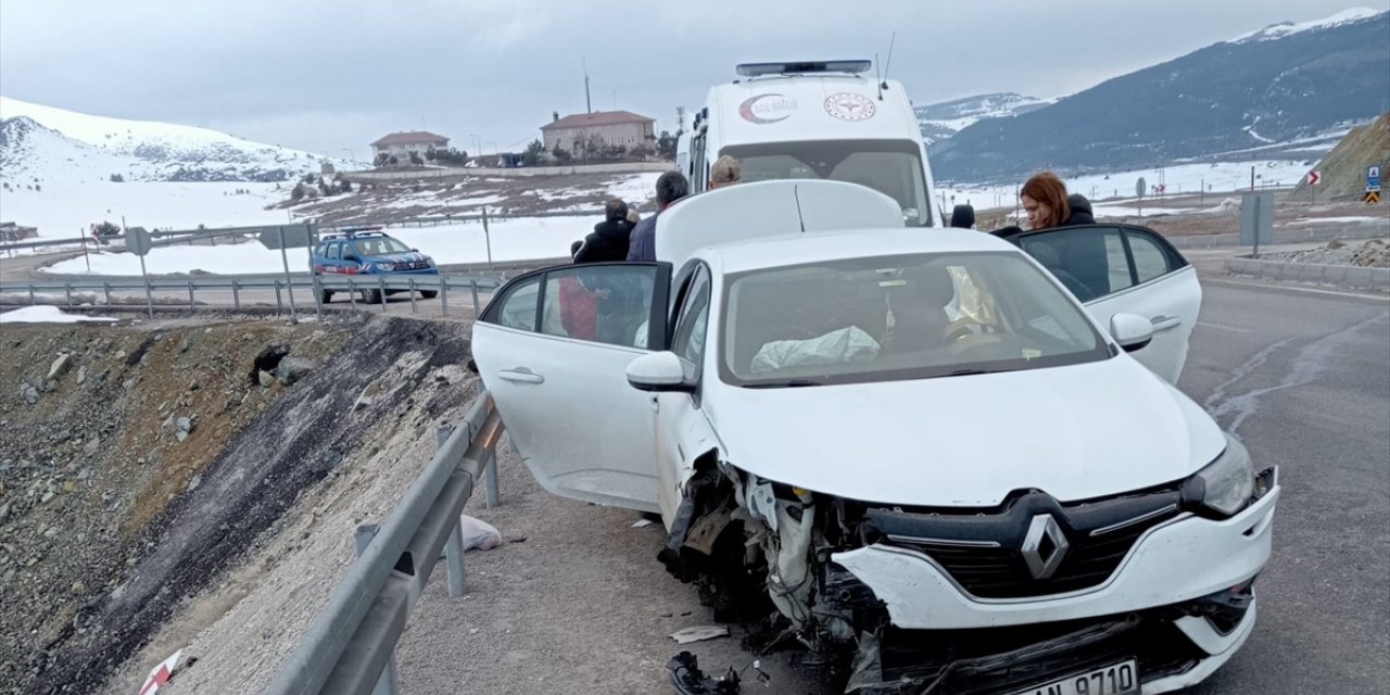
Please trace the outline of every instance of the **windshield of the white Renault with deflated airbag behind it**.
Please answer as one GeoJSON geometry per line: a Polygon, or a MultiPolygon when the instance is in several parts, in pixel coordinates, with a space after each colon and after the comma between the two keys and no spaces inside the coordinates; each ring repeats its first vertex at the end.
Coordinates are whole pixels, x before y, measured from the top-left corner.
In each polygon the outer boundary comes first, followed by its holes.
{"type": "Polygon", "coordinates": [[[890,256],[726,281],[720,378],[816,386],[1019,371],[1112,356],[1015,252],[890,256]]]}

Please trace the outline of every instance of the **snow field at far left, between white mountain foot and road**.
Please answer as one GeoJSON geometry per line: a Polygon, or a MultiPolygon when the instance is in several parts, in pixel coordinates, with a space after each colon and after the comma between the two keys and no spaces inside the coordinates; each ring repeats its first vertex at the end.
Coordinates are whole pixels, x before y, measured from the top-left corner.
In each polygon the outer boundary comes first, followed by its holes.
{"type": "Polygon", "coordinates": [[[275,183],[54,182],[42,190],[0,189],[0,210],[6,221],[36,227],[40,238],[61,239],[88,235],[101,221],[120,225],[122,215],[146,229],[288,222],[284,210],[265,210],[282,197],[275,183]]]}

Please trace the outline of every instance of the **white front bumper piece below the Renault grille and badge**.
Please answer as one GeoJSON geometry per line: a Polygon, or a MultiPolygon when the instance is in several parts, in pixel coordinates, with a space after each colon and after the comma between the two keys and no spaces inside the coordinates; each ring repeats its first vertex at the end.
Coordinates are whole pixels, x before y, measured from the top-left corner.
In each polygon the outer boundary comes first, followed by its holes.
{"type": "Polygon", "coordinates": [[[1272,489],[1223,521],[1180,517],[1144,534],[1104,584],[1058,596],[984,600],[966,595],[926,555],[881,545],[834,553],[905,630],[1026,626],[1163,606],[1229,589],[1269,560],[1272,489]],[[1245,535],[1247,531],[1250,535],[1245,535]]]}

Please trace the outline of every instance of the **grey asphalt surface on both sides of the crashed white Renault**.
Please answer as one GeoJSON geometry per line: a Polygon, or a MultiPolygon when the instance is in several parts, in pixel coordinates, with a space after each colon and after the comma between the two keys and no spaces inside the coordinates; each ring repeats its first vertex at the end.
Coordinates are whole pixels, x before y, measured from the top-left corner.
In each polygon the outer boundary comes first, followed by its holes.
{"type": "MultiPolygon", "coordinates": [[[[1205,278],[1180,386],[1277,464],[1275,556],[1257,582],[1259,623],[1188,695],[1372,694],[1390,682],[1390,300],[1205,278]]],[[[678,646],[710,624],[695,591],[656,562],[663,534],[635,513],[541,491],[514,456],[503,505],[468,514],[506,538],[468,553],[470,595],[425,591],[398,649],[406,692],[663,694],[680,649],[706,673],[734,666],[744,692],[830,695],[816,671],[730,638],[678,646]]],[[[442,578],[442,577],[441,577],[442,578]]]]}

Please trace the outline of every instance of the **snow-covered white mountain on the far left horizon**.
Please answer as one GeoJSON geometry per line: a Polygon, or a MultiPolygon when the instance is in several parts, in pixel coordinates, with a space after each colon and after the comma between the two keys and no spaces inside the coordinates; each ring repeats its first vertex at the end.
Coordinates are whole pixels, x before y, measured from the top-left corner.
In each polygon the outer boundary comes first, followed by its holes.
{"type": "Polygon", "coordinates": [[[0,96],[0,179],[286,181],[328,160],[190,125],[79,114],[0,96]]]}

